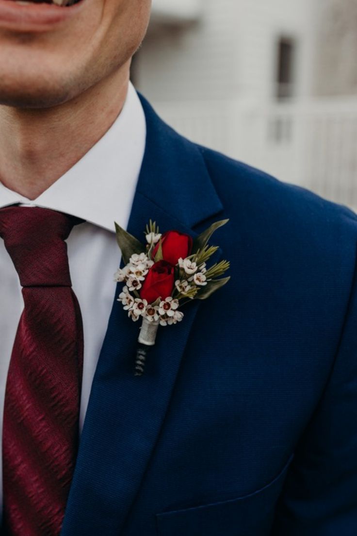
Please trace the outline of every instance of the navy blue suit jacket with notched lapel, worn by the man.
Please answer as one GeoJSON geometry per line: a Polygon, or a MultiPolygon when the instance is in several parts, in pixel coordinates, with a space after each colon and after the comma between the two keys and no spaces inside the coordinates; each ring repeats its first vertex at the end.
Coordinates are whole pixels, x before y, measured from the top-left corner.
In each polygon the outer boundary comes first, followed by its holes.
{"type": "Polygon", "coordinates": [[[128,230],[229,218],[213,242],[232,277],[159,330],[142,377],[118,286],[62,536],[355,536],[357,218],[142,103],[128,230]]]}

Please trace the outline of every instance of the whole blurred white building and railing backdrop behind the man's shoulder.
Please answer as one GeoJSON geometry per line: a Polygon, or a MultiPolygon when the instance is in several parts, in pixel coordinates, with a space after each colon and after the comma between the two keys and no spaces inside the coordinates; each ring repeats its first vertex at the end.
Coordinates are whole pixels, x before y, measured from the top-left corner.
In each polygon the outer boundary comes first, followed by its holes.
{"type": "Polygon", "coordinates": [[[153,0],[132,73],[189,139],[357,209],[357,0],[153,0]]]}

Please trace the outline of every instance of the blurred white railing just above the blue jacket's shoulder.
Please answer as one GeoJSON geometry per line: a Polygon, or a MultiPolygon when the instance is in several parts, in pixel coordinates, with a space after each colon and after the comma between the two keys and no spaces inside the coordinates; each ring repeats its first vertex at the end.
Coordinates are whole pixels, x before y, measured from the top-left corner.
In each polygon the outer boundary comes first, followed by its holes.
{"type": "Polygon", "coordinates": [[[195,142],[357,209],[357,99],[254,106],[160,102],[156,109],[195,142]]]}

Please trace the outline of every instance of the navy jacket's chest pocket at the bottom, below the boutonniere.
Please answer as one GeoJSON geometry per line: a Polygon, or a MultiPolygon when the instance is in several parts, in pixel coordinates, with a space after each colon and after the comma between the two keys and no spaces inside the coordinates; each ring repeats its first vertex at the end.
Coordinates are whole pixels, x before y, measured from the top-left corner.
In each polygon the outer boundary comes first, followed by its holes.
{"type": "Polygon", "coordinates": [[[292,458],[274,480],[252,494],[157,513],[158,536],[267,536],[292,458]]]}

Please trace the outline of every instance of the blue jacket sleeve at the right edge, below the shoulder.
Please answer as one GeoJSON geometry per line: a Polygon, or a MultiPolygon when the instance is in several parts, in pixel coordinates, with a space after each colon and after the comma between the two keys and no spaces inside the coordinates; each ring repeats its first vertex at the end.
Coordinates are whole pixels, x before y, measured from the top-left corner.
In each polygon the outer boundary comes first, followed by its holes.
{"type": "Polygon", "coordinates": [[[357,535],[357,273],[336,359],[277,504],[271,536],[357,535]]]}

